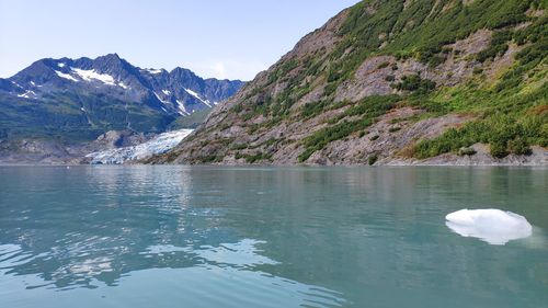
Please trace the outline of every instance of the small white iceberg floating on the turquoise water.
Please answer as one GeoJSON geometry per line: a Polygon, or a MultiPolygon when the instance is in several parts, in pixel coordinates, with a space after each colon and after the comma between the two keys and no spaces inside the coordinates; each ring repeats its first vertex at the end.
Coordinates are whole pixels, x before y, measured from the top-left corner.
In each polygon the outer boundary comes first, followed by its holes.
{"type": "Polygon", "coordinates": [[[527,238],[533,227],[525,217],[500,209],[460,209],[445,216],[445,225],[463,237],[479,238],[490,244],[527,238]]]}

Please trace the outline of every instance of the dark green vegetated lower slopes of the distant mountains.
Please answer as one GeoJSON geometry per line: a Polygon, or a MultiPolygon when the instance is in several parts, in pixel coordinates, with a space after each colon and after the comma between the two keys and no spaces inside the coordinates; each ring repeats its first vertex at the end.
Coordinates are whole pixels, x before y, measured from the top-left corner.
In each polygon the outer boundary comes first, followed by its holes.
{"type": "Polygon", "coordinates": [[[48,93],[42,101],[0,94],[4,138],[61,138],[87,141],[107,130],[163,132],[172,118],[102,94],[48,93]],[[85,111],[85,112],[84,112],[85,111]]]}

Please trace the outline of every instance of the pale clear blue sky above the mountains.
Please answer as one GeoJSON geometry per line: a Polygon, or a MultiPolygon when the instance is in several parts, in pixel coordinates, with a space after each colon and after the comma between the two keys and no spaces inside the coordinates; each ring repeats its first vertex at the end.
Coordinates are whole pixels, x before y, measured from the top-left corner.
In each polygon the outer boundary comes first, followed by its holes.
{"type": "Polygon", "coordinates": [[[251,80],[357,0],[0,0],[0,78],[117,53],[141,68],[251,80]]]}

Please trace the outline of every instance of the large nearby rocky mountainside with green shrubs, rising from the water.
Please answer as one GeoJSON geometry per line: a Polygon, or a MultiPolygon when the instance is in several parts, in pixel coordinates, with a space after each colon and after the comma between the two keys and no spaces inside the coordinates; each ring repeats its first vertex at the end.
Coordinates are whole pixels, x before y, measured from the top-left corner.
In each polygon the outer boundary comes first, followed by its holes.
{"type": "Polygon", "coordinates": [[[546,3],[362,1],[148,162],[548,164],[546,3]]]}

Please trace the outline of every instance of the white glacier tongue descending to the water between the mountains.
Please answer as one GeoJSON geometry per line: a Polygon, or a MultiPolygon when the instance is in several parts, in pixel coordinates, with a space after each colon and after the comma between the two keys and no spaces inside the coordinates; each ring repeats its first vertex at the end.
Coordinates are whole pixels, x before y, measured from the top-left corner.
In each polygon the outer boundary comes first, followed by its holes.
{"type": "Polygon", "coordinates": [[[155,138],[134,146],[87,155],[92,164],[121,164],[129,160],[145,159],[164,153],[179,145],[193,129],[179,129],[160,134],[155,138]]]}

